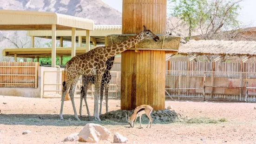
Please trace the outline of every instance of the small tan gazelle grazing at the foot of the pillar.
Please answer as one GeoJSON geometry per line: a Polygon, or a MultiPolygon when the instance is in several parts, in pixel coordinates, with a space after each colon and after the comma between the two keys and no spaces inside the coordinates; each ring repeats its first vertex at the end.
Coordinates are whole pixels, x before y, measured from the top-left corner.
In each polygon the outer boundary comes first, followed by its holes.
{"type": "MultiPolygon", "coordinates": [[[[140,106],[136,107],[136,109],[134,110],[134,112],[131,115],[131,117],[129,118],[129,120],[127,119],[127,114],[125,113],[126,120],[130,124],[130,126],[133,127],[137,118],[139,117],[139,122],[140,122],[140,127],[141,127],[141,115],[146,114],[149,118],[149,123],[147,125],[147,128],[150,123],[151,124],[150,124],[149,128],[151,128],[153,119],[151,118],[150,114],[152,111],[153,111],[153,108],[150,105],[140,105],[140,106]],[[134,119],[135,119],[135,121],[134,121],[134,119]],[[134,121],[134,124],[133,124],[133,121],[134,121]]],[[[129,115],[128,115],[128,117],[129,117],[129,115]]]]}

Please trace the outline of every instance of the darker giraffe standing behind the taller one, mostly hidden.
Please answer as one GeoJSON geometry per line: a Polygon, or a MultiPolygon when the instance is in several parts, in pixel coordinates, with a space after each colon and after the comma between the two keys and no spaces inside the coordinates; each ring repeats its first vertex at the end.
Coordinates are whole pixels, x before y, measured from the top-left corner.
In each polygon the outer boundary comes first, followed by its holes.
{"type": "MultiPolygon", "coordinates": [[[[100,105],[99,105],[99,115],[101,115],[101,109],[102,109],[102,101],[103,101],[103,91],[105,89],[105,101],[106,101],[106,112],[108,112],[108,85],[109,82],[111,80],[111,74],[110,74],[110,70],[114,64],[114,60],[115,60],[115,56],[109,58],[106,61],[106,70],[103,74],[102,80],[101,80],[101,85],[100,85],[100,105]]],[[[95,85],[95,77],[91,76],[91,77],[86,77],[83,76],[82,77],[82,87],[81,87],[81,95],[80,95],[80,109],[79,109],[79,114],[80,117],[82,117],[82,103],[83,103],[83,99],[85,100],[85,106],[86,106],[86,110],[87,110],[87,114],[88,116],[90,116],[90,111],[88,109],[88,105],[87,105],[87,101],[86,101],[86,94],[88,89],[93,85],[95,85]]]]}

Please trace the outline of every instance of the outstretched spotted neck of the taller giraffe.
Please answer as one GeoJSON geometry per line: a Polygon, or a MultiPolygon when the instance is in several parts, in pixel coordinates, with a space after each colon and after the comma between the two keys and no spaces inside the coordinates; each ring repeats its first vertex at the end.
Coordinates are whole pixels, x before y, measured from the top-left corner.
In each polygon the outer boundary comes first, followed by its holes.
{"type": "Polygon", "coordinates": [[[108,52],[106,58],[109,59],[112,56],[115,56],[117,54],[120,54],[121,52],[128,50],[132,46],[138,44],[138,42],[140,42],[142,39],[144,39],[143,31],[138,33],[131,39],[128,39],[126,41],[120,42],[112,46],[106,46],[105,49],[108,52]]]}

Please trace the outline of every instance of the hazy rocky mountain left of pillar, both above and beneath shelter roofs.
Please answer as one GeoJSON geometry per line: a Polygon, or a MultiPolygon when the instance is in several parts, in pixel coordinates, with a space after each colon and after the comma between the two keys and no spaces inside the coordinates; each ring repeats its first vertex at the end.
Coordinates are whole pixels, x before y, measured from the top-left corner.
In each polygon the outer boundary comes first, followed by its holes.
{"type": "MultiPolygon", "coordinates": [[[[0,0],[0,9],[44,11],[91,19],[95,25],[121,25],[122,14],[101,0],[0,0]]],[[[26,31],[0,31],[0,53],[4,48],[30,47],[26,31]],[[20,39],[20,40],[18,40],[20,39]],[[25,44],[25,45],[23,45],[25,44]]],[[[35,46],[45,47],[49,39],[36,38],[35,46]]],[[[70,45],[67,42],[67,45],[70,45]]],[[[13,61],[0,54],[0,61],[13,61]]]]}

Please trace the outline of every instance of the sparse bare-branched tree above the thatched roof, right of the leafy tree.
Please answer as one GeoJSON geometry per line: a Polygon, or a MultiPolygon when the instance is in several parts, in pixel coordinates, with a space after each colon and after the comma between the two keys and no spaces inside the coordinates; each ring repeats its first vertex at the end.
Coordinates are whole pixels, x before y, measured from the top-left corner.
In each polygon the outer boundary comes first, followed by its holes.
{"type": "Polygon", "coordinates": [[[241,23],[237,20],[239,3],[243,0],[207,0],[199,13],[199,27],[203,39],[216,39],[216,36],[229,36],[238,29],[241,23]],[[232,33],[222,32],[232,30],[232,33]]]}

